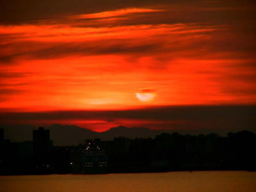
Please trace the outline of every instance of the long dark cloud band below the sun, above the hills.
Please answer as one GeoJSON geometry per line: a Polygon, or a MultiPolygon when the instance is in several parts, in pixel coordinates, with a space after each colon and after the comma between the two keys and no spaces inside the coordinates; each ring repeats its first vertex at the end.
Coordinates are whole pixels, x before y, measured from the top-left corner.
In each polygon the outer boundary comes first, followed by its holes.
{"type": "MultiPolygon", "coordinates": [[[[104,120],[110,122],[134,120],[152,129],[207,129],[232,131],[255,130],[256,106],[166,106],[157,108],[111,110],[111,111],[49,111],[0,113],[1,124],[45,124],[59,120],[104,120]],[[15,123],[14,123],[15,122],[15,123]]],[[[110,128],[110,127],[109,127],[110,128]]]]}

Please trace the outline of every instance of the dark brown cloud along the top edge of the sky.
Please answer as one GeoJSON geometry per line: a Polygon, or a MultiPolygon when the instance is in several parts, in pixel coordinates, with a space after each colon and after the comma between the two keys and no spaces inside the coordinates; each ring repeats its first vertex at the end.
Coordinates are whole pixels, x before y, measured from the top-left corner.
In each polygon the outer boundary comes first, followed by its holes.
{"type": "MultiPolygon", "coordinates": [[[[251,10],[255,7],[253,1],[199,1],[199,0],[11,0],[0,3],[0,23],[19,24],[35,22],[35,20],[57,19],[63,15],[77,15],[85,13],[104,12],[131,7],[168,7],[173,10],[173,22],[185,22],[193,20],[198,22],[213,20],[252,20],[253,12],[245,12],[245,8],[251,10]]],[[[159,19],[163,20],[163,17],[159,19]]],[[[156,19],[157,20],[157,19],[156,19]]]]}

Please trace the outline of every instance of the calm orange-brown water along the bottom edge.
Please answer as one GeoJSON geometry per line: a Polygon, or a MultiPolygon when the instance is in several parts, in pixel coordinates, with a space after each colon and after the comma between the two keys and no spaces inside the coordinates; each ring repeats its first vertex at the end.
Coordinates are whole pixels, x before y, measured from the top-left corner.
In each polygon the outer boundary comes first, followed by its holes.
{"type": "Polygon", "coordinates": [[[256,172],[0,176],[0,191],[256,191],[256,172]]]}

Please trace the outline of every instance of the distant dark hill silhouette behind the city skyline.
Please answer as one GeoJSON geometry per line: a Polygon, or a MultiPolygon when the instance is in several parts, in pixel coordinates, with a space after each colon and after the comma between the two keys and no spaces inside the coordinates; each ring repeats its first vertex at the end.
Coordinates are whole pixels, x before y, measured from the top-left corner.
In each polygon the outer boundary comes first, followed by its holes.
{"type": "MultiPolygon", "coordinates": [[[[1,126],[4,129],[4,138],[12,142],[31,141],[33,125],[8,125],[1,126]]],[[[89,129],[77,127],[76,125],[60,125],[53,124],[45,127],[50,130],[51,140],[54,145],[77,145],[83,143],[84,140],[100,138],[101,140],[113,140],[113,138],[154,138],[162,132],[180,134],[209,134],[210,130],[152,130],[146,127],[124,127],[118,126],[104,132],[95,132],[89,129]]],[[[221,134],[220,132],[218,132],[221,134]]],[[[225,132],[226,134],[227,132],[225,132]]],[[[223,134],[223,133],[222,133],[223,134]]]]}

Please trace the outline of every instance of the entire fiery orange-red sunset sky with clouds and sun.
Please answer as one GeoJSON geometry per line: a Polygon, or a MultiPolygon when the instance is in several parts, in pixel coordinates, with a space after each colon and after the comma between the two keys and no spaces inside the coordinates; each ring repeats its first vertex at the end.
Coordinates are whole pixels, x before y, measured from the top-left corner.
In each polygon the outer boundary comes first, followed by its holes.
{"type": "Polygon", "coordinates": [[[255,127],[255,5],[1,1],[0,124],[255,127]]]}

